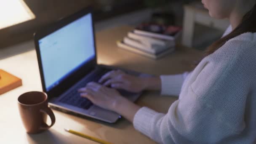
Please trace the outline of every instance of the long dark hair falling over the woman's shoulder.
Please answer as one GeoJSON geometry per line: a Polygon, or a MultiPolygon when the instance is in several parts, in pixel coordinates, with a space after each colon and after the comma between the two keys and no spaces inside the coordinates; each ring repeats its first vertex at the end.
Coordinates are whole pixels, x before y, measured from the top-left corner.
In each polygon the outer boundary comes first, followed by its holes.
{"type": "MultiPolygon", "coordinates": [[[[250,11],[248,11],[248,13],[245,14],[241,23],[232,32],[222,37],[221,39],[217,40],[205,50],[203,58],[210,55],[211,53],[214,53],[222,45],[224,45],[228,40],[238,35],[241,35],[245,32],[253,32],[253,33],[256,32],[256,4],[253,6],[253,8],[250,11]]],[[[197,66],[200,61],[196,61],[195,66],[197,66]]]]}

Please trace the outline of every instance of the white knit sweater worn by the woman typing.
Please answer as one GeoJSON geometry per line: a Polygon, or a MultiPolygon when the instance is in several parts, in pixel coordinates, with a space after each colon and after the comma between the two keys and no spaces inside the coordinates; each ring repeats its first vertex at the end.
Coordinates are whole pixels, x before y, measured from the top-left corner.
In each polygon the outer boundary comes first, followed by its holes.
{"type": "Polygon", "coordinates": [[[142,107],[134,128],[163,144],[256,143],[255,70],[256,33],[232,38],[192,72],[162,75],[161,94],[179,100],[167,114],[142,107]]]}

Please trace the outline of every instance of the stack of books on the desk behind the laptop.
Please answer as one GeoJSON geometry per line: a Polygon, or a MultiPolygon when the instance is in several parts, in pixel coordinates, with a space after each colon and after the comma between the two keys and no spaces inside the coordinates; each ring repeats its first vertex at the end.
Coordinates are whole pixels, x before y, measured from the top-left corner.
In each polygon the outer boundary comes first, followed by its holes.
{"type": "Polygon", "coordinates": [[[175,41],[180,34],[181,27],[141,24],[128,32],[122,41],[117,41],[117,46],[152,59],[158,59],[175,50],[175,41]]]}

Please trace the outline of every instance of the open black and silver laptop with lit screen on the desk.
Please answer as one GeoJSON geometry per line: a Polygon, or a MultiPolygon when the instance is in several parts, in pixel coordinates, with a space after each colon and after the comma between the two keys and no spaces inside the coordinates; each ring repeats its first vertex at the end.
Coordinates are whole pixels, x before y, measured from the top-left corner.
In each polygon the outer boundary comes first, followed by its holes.
{"type": "MultiPolygon", "coordinates": [[[[115,123],[120,118],[119,114],[94,105],[77,92],[88,82],[98,82],[101,76],[117,69],[97,64],[91,8],[85,8],[36,32],[34,41],[41,83],[50,107],[108,123],[115,123]]],[[[131,75],[143,75],[121,70],[131,75]]],[[[131,101],[136,101],[141,95],[118,91],[131,101]]]]}

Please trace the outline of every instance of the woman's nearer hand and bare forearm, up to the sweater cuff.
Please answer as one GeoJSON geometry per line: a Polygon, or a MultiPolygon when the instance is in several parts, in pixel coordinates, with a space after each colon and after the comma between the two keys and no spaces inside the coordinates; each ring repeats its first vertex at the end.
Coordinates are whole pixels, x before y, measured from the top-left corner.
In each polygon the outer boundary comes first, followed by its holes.
{"type": "Polygon", "coordinates": [[[117,90],[98,83],[88,83],[85,88],[80,88],[78,92],[80,92],[80,96],[89,99],[93,104],[117,112],[130,122],[133,122],[134,115],[141,108],[132,101],[125,99],[117,90]]]}

